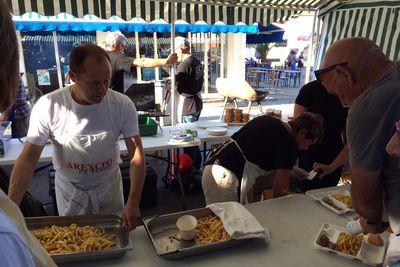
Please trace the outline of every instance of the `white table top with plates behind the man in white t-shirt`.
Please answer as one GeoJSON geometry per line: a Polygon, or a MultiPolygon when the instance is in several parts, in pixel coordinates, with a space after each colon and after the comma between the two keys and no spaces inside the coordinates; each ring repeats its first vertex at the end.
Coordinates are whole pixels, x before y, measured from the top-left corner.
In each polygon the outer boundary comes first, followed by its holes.
{"type": "MultiPolygon", "coordinates": [[[[143,148],[145,152],[153,152],[157,150],[165,150],[172,148],[183,148],[190,146],[199,146],[204,142],[212,142],[212,141],[225,141],[232,136],[233,133],[237,132],[241,126],[228,126],[228,133],[224,136],[213,136],[207,133],[206,129],[197,128],[198,137],[193,142],[186,143],[169,143],[170,136],[169,131],[177,129],[173,126],[165,126],[163,127],[163,131],[161,132],[158,129],[157,135],[154,136],[144,136],[142,137],[143,148]]],[[[15,163],[19,154],[22,151],[23,143],[18,139],[10,139],[4,142],[5,146],[5,155],[0,158],[0,166],[1,165],[12,165],[15,163]]],[[[125,146],[125,142],[123,140],[119,141],[120,151],[122,154],[127,153],[127,149],[125,146]]],[[[51,144],[46,144],[43,152],[39,158],[39,162],[50,162],[53,154],[53,149],[51,144]]]]}

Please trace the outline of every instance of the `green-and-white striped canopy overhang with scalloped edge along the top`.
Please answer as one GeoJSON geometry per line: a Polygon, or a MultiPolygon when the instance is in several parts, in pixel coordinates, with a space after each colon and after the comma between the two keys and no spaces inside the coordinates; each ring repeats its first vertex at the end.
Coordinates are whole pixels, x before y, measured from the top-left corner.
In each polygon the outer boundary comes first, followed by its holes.
{"type": "Polygon", "coordinates": [[[52,16],[62,12],[83,17],[96,15],[103,19],[113,15],[124,20],[141,17],[150,22],[164,19],[171,22],[172,11],[175,19],[195,23],[202,20],[208,24],[222,21],[232,25],[238,22],[255,22],[268,25],[284,22],[299,15],[301,11],[314,10],[322,0],[7,0],[14,15],[37,12],[52,16]]]}

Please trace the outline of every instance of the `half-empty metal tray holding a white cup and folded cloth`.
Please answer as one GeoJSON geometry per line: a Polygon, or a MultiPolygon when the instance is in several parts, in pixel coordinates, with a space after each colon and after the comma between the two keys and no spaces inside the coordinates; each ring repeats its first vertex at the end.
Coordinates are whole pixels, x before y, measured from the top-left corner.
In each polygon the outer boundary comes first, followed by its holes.
{"type": "Polygon", "coordinates": [[[209,214],[213,213],[208,208],[189,210],[162,216],[143,218],[143,225],[153,243],[157,256],[166,259],[181,259],[238,246],[251,240],[229,239],[207,245],[199,245],[196,240],[184,241],[178,240],[179,238],[171,238],[171,236],[179,235],[179,230],[176,228],[176,221],[179,217],[183,215],[193,215],[196,218],[201,218],[208,216],[209,214]]]}

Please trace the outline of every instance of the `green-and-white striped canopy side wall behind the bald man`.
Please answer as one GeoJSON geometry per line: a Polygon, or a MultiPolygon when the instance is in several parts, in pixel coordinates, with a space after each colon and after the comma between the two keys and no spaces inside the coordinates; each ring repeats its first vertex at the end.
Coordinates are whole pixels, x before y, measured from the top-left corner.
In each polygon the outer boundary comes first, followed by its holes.
{"type": "Polygon", "coordinates": [[[390,59],[399,60],[399,13],[399,0],[330,3],[320,10],[323,25],[316,66],[321,64],[323,56],[333,42],[349,37],[368,38],[380,46],[390,59]]]}

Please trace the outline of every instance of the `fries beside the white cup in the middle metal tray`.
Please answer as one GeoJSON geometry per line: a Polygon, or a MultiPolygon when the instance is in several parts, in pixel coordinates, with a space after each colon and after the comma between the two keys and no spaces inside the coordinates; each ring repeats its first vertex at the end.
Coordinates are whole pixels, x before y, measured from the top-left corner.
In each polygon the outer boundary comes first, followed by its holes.
{"type": "Polygon", "coordinates": [[[230,236],[225,231],[221,219],[210,214],[197,218],[196,239],[199,245],[206,245],[229,240],[230,236]]]}

